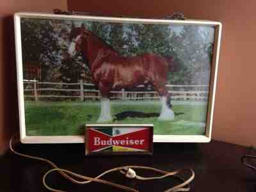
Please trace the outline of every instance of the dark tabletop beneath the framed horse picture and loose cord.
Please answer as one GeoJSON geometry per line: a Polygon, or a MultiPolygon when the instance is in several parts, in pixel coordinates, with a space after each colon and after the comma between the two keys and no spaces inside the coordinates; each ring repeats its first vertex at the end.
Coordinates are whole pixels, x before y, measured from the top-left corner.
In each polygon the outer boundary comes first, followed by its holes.
{"type": "MultiPolygon", "coordinates": [[[[249,153],[246,147],[211,141],[211,143],[155,143],[153,156],[85,157],[82,144],[19,145],[19,152],[47,158],[61,168],[94,177],[99,173],[124,165],[152,166],[163,170],[192,168],[195,180],[191,191],[256,191],[256,173],[246,168],[241,156],[249,153]]],[[[26,159],[7,152],[0,157],[0,191],[47,191],[42,176],[51,167],[40,161],[26,159]]],[[[150,176],[150,172],[140,175],[150,176]]],[[[184,176],[187,174],[184,173],[184,176]]],[[[177,180],[127,179],[120,173],[111,173],[104,179],[118,182],[139,191],[164,191],[177,184],[177,180]]],[[[120,191],[103,184],[71,184],[58,173],[47,179],[49,185],[65,191],[120,191]]]]}

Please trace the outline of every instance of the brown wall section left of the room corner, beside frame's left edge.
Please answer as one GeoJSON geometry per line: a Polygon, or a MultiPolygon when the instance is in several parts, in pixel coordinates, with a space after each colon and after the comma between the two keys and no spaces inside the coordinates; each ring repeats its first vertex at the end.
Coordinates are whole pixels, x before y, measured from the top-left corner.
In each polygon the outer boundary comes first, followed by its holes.
{"type": "Polygon", "coordinates": [[[1,0],[0,2],[0,154],[19,128],[12,15],[20,11],[67,10],[67,1],[1,0]]]}

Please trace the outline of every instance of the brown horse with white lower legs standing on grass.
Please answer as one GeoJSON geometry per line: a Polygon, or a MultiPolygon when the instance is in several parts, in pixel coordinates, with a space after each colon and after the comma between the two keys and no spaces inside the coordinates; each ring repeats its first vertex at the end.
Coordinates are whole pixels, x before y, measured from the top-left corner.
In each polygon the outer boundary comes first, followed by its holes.
{"type": "Polygon", "coordinates": [[[111,90],[134,88],[145,83],[152,84],[162,97],[162,112],[166,113],[167,110],[167,113],[171,113],[161,114],[159,119],[172,120],[174,118],[174,113],[170,109],[170,95],[166,90],[168,72],[173,62],[172,57],[166,59],[153,53],[133,57],[120,56],[92,31],[86,30],[83,25],[81,28],[72,27],[70,41],[72,43],[68,50],[69,53],[74,55],[77,51],[81,51],[86,57],[93,83],[98,86],[102,94],[102,110],[98,122],[111,120],[110,106],[107,103],[111,90]],[[109,114],[106,115],[106,113],[109,114]]]}

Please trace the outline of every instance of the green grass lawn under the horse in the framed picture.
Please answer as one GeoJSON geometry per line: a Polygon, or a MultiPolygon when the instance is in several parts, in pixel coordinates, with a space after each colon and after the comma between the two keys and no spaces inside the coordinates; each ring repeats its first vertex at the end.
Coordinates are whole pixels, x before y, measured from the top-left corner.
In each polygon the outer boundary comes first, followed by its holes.
{"type": "MultiPolygon", "coordinates": [[[[159,113],[160,102],[112,102],[112,115],[122,111],[159,113]]],[[[112,124],[154,124],[154,134],[205,134],[205,104],[175,104],[173,121],[159,121],[157,117],[125,118],[112,124]]],[[[25,102],[26,134],[29,136],[57,136],[84,134],[84,124],[95,124],[100,114],[99,102],[25,102]]]]}

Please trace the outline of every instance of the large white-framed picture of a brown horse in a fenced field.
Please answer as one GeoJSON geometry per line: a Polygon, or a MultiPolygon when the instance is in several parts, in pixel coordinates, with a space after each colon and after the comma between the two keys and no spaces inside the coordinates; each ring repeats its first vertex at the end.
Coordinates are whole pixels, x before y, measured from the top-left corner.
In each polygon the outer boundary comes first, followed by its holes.
{"type": "Polygon", "coordinates": [[[86,124],[152,124],[154,142],[211,140],[220,22],[45,13],[14,20],[22,143],[83,143],[86,124]]]}

